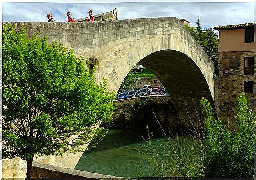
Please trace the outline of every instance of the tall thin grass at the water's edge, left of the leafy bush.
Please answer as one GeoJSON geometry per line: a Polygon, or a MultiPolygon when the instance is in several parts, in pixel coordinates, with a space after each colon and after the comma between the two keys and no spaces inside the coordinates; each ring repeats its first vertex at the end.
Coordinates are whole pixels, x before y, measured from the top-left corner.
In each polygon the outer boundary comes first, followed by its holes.
{"type": "Polygon", "coordinates": [[[150,150],[140,151],[155,167],[153,176],[202,177],[204,146],[203,138],[200,137],[199,132],[190,136],[185,134],[168,136],[162,129],[162,136],[164,141],[159,146],[159,143],[156,143],[157,140],[154,139],[153,141],[153,133],[148,129],[148,138],[144,138],[147,145],[142,146],[146,146],[146,149],[150,150]]]}

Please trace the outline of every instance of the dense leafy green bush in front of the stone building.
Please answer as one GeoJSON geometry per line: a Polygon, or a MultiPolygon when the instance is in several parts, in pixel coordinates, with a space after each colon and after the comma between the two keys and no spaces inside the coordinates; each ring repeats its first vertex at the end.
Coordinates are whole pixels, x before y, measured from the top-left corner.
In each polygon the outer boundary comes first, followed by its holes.
{"type": "Polygon", "coordinates": [[[210,103],[201,100],[205,113],[204,173],[206,177],[253,177],[255,114],[244,93],[237,97],[235,129],[213,118],[210,103]]]}

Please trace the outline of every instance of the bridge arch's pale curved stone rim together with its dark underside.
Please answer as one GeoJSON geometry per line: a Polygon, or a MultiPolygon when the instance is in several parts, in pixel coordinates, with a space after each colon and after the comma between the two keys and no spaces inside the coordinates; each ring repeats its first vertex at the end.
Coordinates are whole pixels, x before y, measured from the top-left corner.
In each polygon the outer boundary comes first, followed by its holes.
{"type": "Polygon", "coordinates": [[[127,47],[124,50],[127,55],[123,56],[109,74],[108,84],[112,84],[110,86],[115,87],[112,90],[117,91],[132,67],[139,63],[150,69],[169,92],[181,127],[192,124],[200,127],[200,99],[208,99],[215,110],[214,64],[206,53],[202,52],[197,42],[193,42],[195,44],[191,46],[189,41],[194,39],[184,40],[181,36],[177,37],[179,38],[169,39],[169,42],[173,42],[171,44],[164,43],[168,42],[165,38],[155,37],[156,39],[147,39],[137,44],[136,48],[127,47]]]}

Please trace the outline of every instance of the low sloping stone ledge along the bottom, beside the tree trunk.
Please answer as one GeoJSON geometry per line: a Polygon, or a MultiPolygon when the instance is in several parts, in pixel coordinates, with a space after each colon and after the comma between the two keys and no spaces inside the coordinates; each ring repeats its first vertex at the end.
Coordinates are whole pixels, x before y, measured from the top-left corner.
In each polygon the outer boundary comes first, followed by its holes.
{"type": "Polygon", "coordinates": [[[90,173],[87,171],[80,171],[76,169],[63,168],[49,164],[33,164],[32,176],[34,178],[88,178],[99,180],[128,180],[128,178],[116,177],[112,175],[104,175],[97,173],[90,173]]]}

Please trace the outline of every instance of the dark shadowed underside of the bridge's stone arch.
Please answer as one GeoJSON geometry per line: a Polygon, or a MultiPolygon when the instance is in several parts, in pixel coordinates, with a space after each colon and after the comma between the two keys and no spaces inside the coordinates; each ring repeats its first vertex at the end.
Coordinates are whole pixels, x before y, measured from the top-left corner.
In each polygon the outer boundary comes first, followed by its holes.
{"type": "MultiPolygon", "coordinates": [[[[207,79],[200,67],[186,54],[175,50],[156,51],[136,61],[136,63],[138,62],[150,69],[169,92],[171,101],[178,113],[179,127],[200,129],[203,121],[200,100],[203,97],[208,99],[215,109],[214,97],[212,97],[207,79]]],[[[116,67],[122,69],[122,81],[132,69],[129,67],[129,71],[125,71],[127,68],[123,64],[124,62],[120,62],[116,67]]],[[[115,74],[114,81],[119,82],[115,69],[113,69],[113,73],[115,74]]],[[[212,83],[212,74],[209,74],[209,77],[211,77],[210,83],[212,83]]]]}

